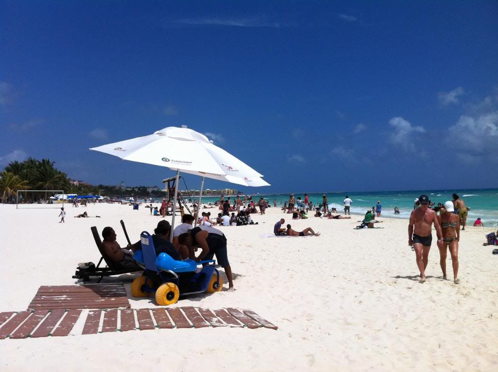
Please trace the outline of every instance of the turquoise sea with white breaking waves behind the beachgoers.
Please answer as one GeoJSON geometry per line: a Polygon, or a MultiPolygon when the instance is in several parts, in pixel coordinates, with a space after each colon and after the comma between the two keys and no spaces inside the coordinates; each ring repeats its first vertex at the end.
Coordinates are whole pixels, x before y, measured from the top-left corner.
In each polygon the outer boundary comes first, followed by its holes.
{"type": "MultiPolygon", "coordinates": [[[[413,210],[413,203],[416,197],[421,194],[429,196],[430,200],[437,203],[444,203],[451,200],[451,194],[456,193],[462,198],[467,206],[471,208],[469,211],[468,223],[473,224],[477,217],[481,217],[486,226],[498,225],[498,188],[487,189],[462,189],[462,190],[410,190],[410,191],[368,191],[368,192],[350,192],[349,197],[353,200],[351,204],[351,213],[365,214],[367,209],[380,200],[382,204],[382,215],[385,217],[394,218],[409,218],[413,210]],[[394,214],[394,207],[399,208],[400,214],[394,214]]],[[[338,212],[344,212],[343,200],[346,193],[327,193],[327,201],[329,207],[337,208],[338,212]]],[[[283,205],[289,200],[289,195],[281,194],[254,194],[253,199],[257,201],[259,196],[268,199],[273,206],[273,199],[277,200],[277,205],[283,205]]],[[[304,199],[304,194],[295,193],[294,196],[301,196],[304,199]]],[[[232,196],[233,197],[233,196],[232,196]]],[[[308,193],[308,197],[313,201],[313,204],[318,206],[322,202],[322,194],[308,193]]],[[[204,197],[203,204],[212,202],[218,198],[204,197]]]]}

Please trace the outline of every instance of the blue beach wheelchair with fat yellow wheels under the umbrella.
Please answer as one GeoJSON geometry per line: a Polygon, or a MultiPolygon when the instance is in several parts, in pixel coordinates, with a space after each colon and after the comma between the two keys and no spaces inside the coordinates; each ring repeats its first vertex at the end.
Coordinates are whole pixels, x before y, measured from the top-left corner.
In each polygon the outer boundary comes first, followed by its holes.
{"type": "Polygon", "coordinates": [[[145,271],[131,283],[133,297],[155,293],[157,305],[165,306],[176,303],[180,296],[222,290],[220,265],[216,265],[215,260],[177,261],[166,253],[156,256],[152,236],[147,231],[140,234],[140,242],[142,249],[137,250],[133,258],[145,271]],[[205,265],[198,271],[200,264],[205,265]]]}

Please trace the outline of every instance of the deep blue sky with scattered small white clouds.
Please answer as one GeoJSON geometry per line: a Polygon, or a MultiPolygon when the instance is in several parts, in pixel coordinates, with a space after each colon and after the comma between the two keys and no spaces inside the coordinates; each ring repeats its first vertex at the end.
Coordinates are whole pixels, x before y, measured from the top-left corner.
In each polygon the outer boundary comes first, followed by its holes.
{"type": "Polygon", "coordinates": [[[0,167],[45,157],[92,184],[159,185],[173,172],[88,148],[187,125],[272,185],[234,185],[247,192],[497,187],[497,15],[497,1],[0,0],[0,167]]]}

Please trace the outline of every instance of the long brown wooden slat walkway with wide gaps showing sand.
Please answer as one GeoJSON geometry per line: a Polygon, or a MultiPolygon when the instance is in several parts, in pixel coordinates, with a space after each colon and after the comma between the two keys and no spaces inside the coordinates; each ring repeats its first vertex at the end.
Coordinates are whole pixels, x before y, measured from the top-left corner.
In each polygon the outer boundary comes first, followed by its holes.
{"type": "Polygon", "coordinates": [[[155,309],[54,309],[0,313],[0,340],[5,338],[92,335],[104,332],[204,327],[277,327],[250,310],[199,309],[192,306],[155,309]],[[82,329],[76,326],[78,319],[82,329]],[[83,318],[84,317],[84,318],[83,318]],[[84,319],[84,323],[83,323],[84,319]],[[135,322],[136,319],[136,322],[135,322]],[[76,328],[76,329],[74,329],[76,328]]]}

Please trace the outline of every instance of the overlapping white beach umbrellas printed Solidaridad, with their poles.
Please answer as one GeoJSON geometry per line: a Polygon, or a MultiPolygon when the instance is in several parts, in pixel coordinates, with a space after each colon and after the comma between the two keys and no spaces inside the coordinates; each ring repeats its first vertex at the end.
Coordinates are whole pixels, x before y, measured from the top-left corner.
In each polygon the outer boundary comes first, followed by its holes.
{"type": "MultiPolygon", "coordinates": [[[[176,170],[175,199],[171,227],[174,227],[180,171],[204,178],[244,186],[268,186],[262,175],[247,164],[212,144],[203,134],[186,127],[167,127],[154,134],[91,148],[123,160],[176,170]]],[[[200,200],[199,200],[200,204],[200,200]]],[[[173,234],[171,234],[171,239],[173,234]]]]}

